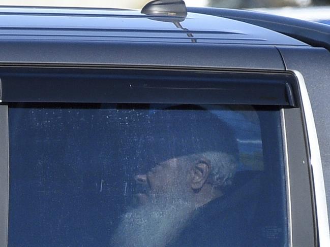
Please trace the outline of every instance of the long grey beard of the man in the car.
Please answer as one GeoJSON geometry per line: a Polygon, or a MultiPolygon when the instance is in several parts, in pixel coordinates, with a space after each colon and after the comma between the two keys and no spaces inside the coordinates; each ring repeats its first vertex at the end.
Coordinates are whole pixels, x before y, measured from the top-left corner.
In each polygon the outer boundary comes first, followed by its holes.
{"type": "Polygon", "coordinates": [[[165,247],[187,225],[194,209],[181,199],[154,198],[123,216],[110,246],[165,247]]]}

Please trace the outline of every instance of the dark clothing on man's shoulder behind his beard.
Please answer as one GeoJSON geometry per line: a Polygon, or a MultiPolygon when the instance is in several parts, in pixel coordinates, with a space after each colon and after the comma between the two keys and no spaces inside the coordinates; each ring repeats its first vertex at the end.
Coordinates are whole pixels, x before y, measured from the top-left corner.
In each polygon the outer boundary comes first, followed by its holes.
{"type": "Polygon", "coordinates": [[[258,189],[254,183],[198,208],[186,228],[167,247],[253,246],[251,237],[255,234],[251,232],[258,189]]]}

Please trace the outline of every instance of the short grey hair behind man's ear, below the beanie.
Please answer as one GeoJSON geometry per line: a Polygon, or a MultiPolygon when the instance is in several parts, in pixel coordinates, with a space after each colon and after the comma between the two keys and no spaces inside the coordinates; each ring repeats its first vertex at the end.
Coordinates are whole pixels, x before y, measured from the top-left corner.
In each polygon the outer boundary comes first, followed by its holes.
{"type": "Polygon", "coordinates": [[[237,169],[237,159],[233,155],[223,152],[205,152],[189,156],[190,161],[196,162],[198,159],[207,160],[211,165],[208,183],[218,188],[232,184],[237,169]]]}

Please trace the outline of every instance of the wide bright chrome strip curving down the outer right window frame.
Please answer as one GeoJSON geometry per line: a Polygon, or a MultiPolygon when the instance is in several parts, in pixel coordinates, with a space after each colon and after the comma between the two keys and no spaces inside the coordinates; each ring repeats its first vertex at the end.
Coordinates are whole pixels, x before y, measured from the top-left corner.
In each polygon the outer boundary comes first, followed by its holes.
{"type": "Polygon", "coordinates": [[[301,93],[302,110],[306,123],[306,131],[310,152],[310,164],[313,168],[313,182],[315,189],[315,204],[317,217],[317,231],[319,246],[330,246],[330,231],[328,224],[328,213],[326,204],[326,194],[324,186],[323,168],[321,162],[320,148],[318,144],[315,121],[313,117],[312,105],[308,96],[303,75],[297,70],[291,70],[298,80],[298,87],[301,93]]]}

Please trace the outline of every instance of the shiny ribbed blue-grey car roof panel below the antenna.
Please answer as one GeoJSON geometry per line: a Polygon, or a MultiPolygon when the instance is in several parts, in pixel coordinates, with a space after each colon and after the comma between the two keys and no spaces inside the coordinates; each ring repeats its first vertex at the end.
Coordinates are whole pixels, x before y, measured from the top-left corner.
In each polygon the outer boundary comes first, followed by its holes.
{"type": "Polygon", "coordinates": [[[2,7],[0,33],[0,41],[307,46],[276,31],[223,17],[188,13],[179,19],[117,9],[2,7]]]}

